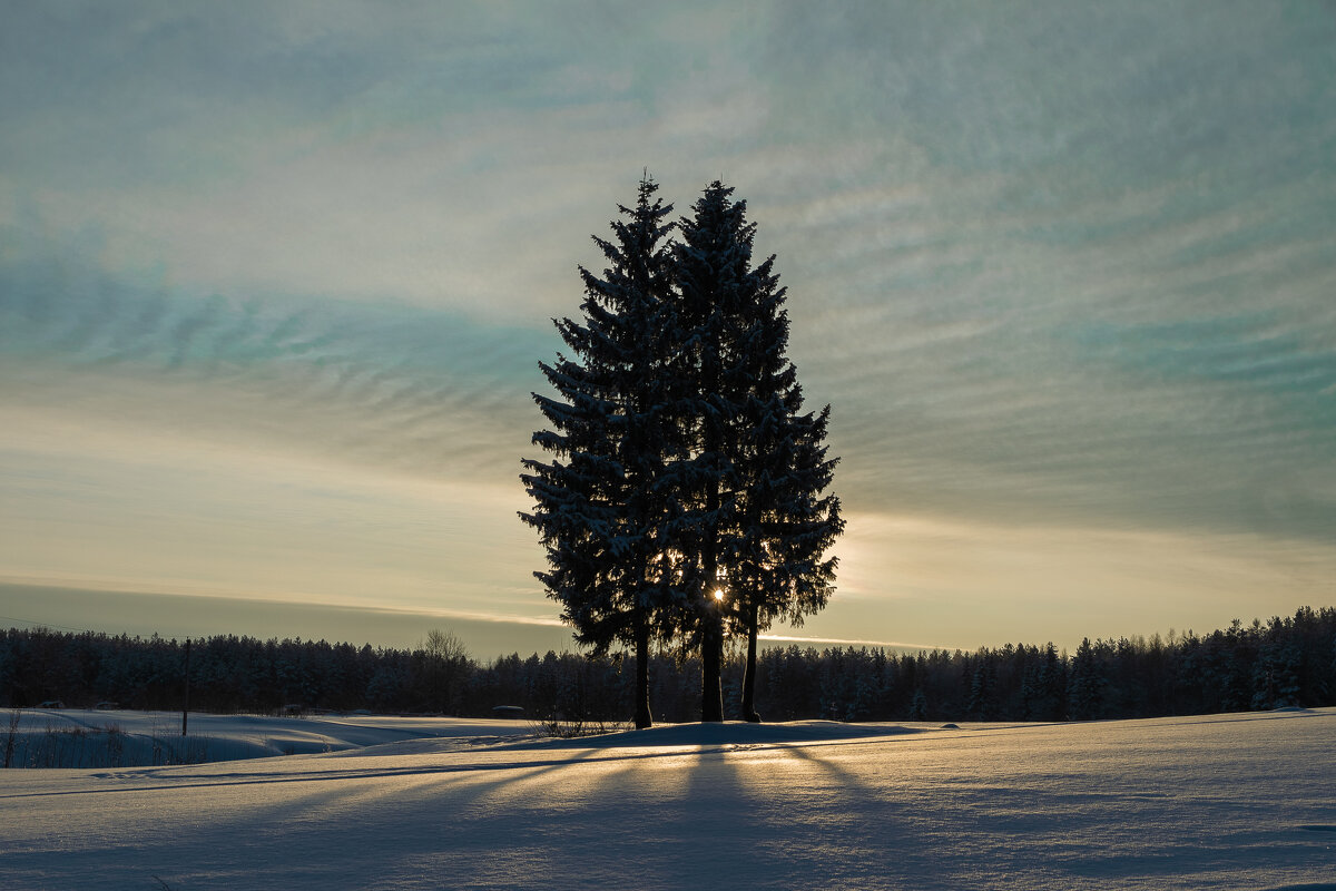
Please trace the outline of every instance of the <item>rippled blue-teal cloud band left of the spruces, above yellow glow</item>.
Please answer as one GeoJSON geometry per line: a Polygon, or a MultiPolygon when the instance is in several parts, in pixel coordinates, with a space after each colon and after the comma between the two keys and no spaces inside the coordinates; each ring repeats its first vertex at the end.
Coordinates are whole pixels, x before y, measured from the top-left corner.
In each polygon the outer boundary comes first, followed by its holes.
{"type": "Polygon", "coordinates": [[[196,297],[86,267],[81,254],[0,264],[0,399],[437,478],[509,474],[538,421],[528,393],[556,341],[541,327],[196,297]]]}

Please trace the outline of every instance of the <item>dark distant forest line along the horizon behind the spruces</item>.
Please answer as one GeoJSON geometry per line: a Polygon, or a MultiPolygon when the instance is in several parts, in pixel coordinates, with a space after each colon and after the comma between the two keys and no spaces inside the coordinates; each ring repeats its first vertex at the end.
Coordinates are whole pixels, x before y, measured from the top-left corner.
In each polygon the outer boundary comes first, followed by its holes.
{"type": "MultiPolygon", "coordinates": [[[[0,707],[179,709],[183,643],[0,632],[0,707]]],[[[739,717],[744,655],[725,659],[725,717],[739,717]]],[[[700,660],[659,655],[651,703],[665,721],[700,713],[700,660]]],[[[351,711],[490,716],[518,705],[533,720],[631,719],[635,660],[577,653],[478,663],[449,633],[415,649],[257,640],[192,640],[190,707],[210,712],[351,711]]],[[[1336,704],[1336,608],[1236,621],[1206,636],[1085,640],[1075,653],[1011,645],[895,653],[776,648],[758,659],[756,708],[767,720],[1055,721],[1204,715],[1336,704]]]]}

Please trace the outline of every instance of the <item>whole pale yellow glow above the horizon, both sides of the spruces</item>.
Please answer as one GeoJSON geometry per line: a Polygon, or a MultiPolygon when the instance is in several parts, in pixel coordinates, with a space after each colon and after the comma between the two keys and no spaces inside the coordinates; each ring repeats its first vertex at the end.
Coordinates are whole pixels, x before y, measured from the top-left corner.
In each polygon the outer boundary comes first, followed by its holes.
{"type": "MultiPolygon", "coordinates": [[[[529,505],[510,473],[424,480],[49,411],[5,409],[0,421],[21,421],[11,448],[40,456],[32,473],[47,474],[40,496],[7,496],[0,580],[560,627],[532,576],[542,549],[516,517],[529,505]]],[[[1074,647],[1336,600],[1336,558],[1312,542],[846,518],[828,606],[767,640],[1074,647]]]]}

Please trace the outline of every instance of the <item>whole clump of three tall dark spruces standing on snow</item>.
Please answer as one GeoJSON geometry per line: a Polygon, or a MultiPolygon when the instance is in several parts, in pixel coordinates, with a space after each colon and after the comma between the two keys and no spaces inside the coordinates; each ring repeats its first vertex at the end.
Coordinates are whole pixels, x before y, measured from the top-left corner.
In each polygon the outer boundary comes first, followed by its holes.
{"type": "Polygon", "coordinates": [[[549,569],[536,573],[576,640],[636,649],[636,721],[648,725],[648,648],[683,635],[701,652],[701,719],[723,720],[725,631],[748,636],[743,713],[754,708],[756,636],[826,605],[843,528],[823,494],[835,460],[830,406],[803,414],[786,355],[788,315],[771,256],[752,267],[755,224],[712,183],[665,238],[671,212],[640,184],[609,266],[581,269],[584,318],[557,321],[570,358],[541,363],[557,398],[534,395],[552,430],[525,461],[549,569]]]}

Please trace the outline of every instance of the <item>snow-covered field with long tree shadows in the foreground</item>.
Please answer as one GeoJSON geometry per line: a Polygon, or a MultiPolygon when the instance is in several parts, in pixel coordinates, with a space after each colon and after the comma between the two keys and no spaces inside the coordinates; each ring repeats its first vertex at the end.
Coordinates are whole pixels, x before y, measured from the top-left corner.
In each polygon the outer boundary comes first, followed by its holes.
{"type": "Polygon", "coordinates": [[[317,753],[3,771],[0,888],[1336,890],[1336,709],[585,740],[210,720],[317,753]]]}

